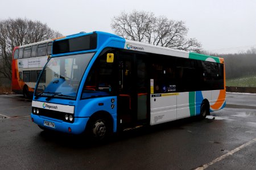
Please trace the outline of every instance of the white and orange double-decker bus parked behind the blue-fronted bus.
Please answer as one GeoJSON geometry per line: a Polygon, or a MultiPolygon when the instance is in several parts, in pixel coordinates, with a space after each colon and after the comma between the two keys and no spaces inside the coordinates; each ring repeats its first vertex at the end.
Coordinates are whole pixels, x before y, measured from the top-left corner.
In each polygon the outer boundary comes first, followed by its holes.
{"type": "MultiPolygon", "coordinates": [[[[36,80],[46,65],[47,59],[51,57],[53,40],[49,39],[14,48],[11,67],[13,92],[23,94],[24,97],[32,96],[36,80]]],[[[45,73],[43,73],[41,81],[46,81],[45,73]]]]}

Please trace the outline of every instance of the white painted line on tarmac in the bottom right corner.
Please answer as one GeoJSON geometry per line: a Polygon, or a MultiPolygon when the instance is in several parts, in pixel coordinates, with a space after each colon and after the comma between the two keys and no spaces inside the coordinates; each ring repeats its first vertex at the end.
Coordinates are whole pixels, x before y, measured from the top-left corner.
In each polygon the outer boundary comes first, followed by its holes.
{"type": "Polygon", "coordinates": [[[204,164],[202,167],[199,167],[199,168],[196,168],[196,170],[203,170],[203,169],[206,169],[208,168],[210,165],[213,165],[214,163],[217,163],[219,161],[221,161],[222,159],[225,159],[226,157],[230,156],[230,155],[233,155],[234,153],[236,153],[237,151],[240,151],[242,148],[246,147],[246,146],[249,146],[251,145],[252,143],[256,142],[256,138],[252,139],[251,141],[235,148],[234,150],[232,151],[229,151],[228,153],[226,153],[225,155],[222,155],[216,159],[214,159],[212,162],[208,163],[208,164],[204,164]]]}

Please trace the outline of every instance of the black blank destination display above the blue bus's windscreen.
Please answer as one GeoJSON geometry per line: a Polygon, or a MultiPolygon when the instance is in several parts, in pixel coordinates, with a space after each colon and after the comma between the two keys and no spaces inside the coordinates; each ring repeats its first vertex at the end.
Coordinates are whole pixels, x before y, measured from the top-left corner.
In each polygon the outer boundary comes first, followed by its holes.
{"type": "Polygon", "coordinates": [[[53,42],[52,54],[69,53],[97,48],[97,34],[53,42]]]}

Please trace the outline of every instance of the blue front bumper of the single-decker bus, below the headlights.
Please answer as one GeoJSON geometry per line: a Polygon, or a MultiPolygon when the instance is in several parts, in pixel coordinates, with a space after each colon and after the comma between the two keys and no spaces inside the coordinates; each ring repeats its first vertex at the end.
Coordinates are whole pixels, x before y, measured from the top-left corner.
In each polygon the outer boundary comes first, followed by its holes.
{"type": "Polygon", "coordinates": [[[61,120],[53,120],[52,118],[41,117],[32,113],[31,113],[31,119],[35,124],[38,124],[39,126],[42,126],[49,130],[56,130],[56,131],[61,131],[64,133],[71,133],[71,134],[81,134],[85,130],[85,126],[89,120],[89,117],[85,117],[85,118],[76,117],[75,122],[73,122],[72,124],[61,121],[61,120]],[[46,126],[45,121],[53,123],[54,128],[46,126]]]}

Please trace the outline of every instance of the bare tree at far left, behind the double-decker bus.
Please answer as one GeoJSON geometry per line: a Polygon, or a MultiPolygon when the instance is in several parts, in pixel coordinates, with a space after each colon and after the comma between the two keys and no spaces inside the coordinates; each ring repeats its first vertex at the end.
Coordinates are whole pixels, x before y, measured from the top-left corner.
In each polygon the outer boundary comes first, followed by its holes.
{"type": "Polygon", "coordinates": [[[0,20],[0,74],[11,80],[11,59],[15,46],[62,36],[39,21],[27,19],[0,20]]]}

